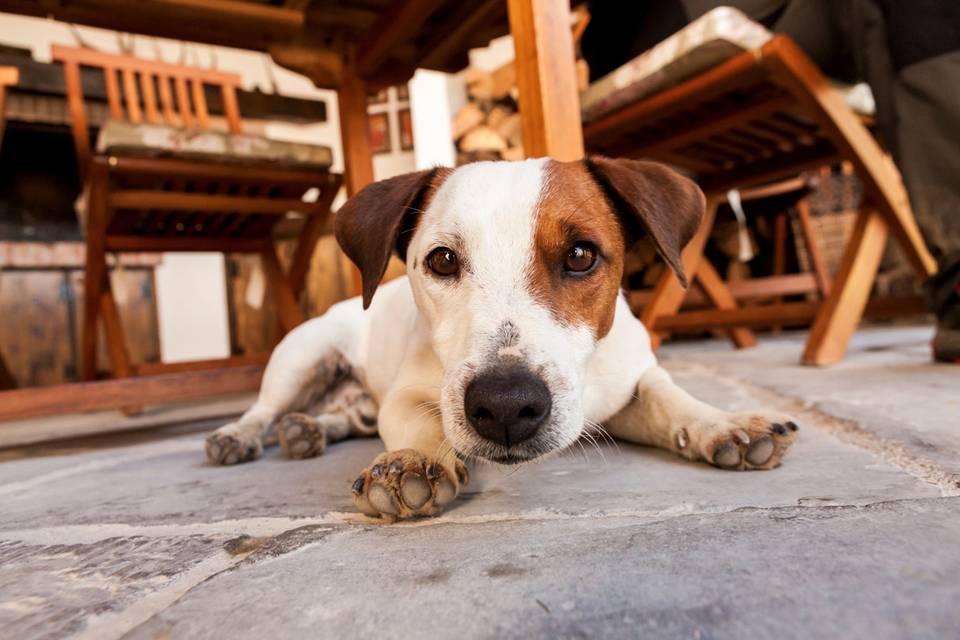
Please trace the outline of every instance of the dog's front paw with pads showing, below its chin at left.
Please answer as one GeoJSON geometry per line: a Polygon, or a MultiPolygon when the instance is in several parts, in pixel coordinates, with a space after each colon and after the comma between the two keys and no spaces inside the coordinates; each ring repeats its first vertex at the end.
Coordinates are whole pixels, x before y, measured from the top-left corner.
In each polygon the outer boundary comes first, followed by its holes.
{"type": "Polygon", "coordinates": [[[390,521],[437,515],[469,482],[466,467],[453,464],[447,469],[415,449],[382,453],[354,481],[353,503],[390,521]]]}

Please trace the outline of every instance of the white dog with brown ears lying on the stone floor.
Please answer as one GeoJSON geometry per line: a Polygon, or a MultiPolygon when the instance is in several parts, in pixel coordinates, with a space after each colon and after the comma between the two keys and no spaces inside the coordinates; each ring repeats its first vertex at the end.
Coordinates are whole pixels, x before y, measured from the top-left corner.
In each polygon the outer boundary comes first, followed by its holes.
{"type": "Polygon", "coordinates": [[[605,430],[724,469],[771,469],[797,425],[691,397],[657,364],[621,292],[624,254],[652,242],[686,286],[699,187],[653,162],[477,162],[371,184],[336,215],[363,295],[291,331],[256,403],[206,441],[252,460],[275,429],[292,458],[379,433],[352,485],[388,521],[435,515],[467,460],[513,465],[605,430]],[[391,255],[407,275],[381,285],[391,255]],[[376,293],[376,296],[374,294],[376,293]]]}

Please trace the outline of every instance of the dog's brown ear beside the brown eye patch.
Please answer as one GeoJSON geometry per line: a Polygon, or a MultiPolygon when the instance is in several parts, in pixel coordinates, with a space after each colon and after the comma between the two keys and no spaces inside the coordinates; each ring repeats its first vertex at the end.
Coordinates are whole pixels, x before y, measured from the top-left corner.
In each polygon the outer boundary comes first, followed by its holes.
{"type": "Polygon", "coordinates": [[[594,156],[586,164],[610,197],[630,239],[649,235],[657,253],[688,286],[681,253],[703,218],[700,187],[658,162],[594,156]]]}

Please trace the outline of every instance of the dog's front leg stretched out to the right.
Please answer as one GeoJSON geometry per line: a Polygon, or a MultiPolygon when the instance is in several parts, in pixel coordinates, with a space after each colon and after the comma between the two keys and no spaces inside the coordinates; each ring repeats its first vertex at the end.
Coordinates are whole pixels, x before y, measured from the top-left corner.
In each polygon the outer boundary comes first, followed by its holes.
{"type": "Polygon", "coordinates": [[[644,373],[634,400],[606,428],[617,438],[741,470],[780,464],[797,432],[796,423],[780,413],[730,413],[700,402],[659,366],[644,373]]]}

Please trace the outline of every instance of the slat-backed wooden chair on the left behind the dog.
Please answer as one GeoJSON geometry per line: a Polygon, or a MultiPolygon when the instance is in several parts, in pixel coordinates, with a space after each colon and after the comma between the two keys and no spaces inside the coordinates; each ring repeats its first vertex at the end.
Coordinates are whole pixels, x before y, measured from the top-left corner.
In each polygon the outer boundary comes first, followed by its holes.
{"type": "MultiPolygon", "coordinates": [[[[302,167],[251,159],[179,157],[177,153],[93,153],[80,69],[103,71],[110,116],[133,124],[210,130],[215,124],[206,87],[219,90],[226,127],[241,133],[239,76],[180,65],[53,47],[63,63],[74,145],[86,181],[86,277],[81,378],[96,377],[97,323],[103,321],[113,375],[183,372],[264,362],[265,354],[221,360],[141,364],[130,361],[107,273],[106,254],[153,251],[219,251],[258,254],[277,303],[279,323],[290,331],[303,321],[297,302],[310,257],[324,232],[340,176],[327,167],[302,167]],[[122,89],[121,89],[122,87],[122,89]],[[313,202],[302,197],[319,189],[313,202]],[[289,272],[274,247],[276,225],[299,215],[302,226],[289,272]]],[[[202,304],[202,301],[200,301],[202,304]]]]}

